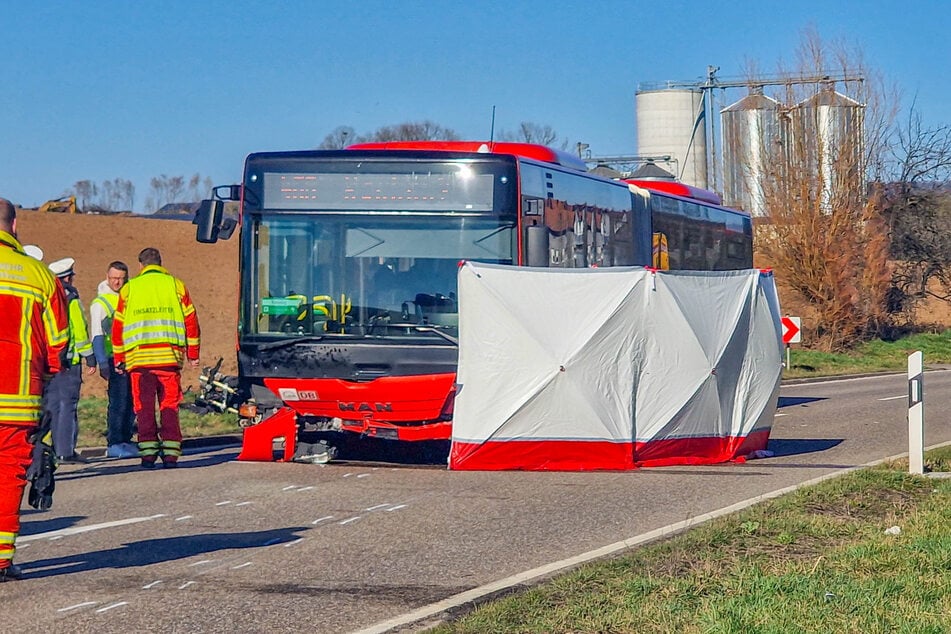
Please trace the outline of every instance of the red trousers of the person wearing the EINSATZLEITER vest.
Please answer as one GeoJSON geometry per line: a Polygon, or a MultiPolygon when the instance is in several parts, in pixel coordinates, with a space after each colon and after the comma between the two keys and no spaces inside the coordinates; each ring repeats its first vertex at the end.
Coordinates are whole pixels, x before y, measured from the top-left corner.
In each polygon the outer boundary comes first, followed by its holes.
{"type": "Polygon", "coordinates": [[[136,368],[132,379],[132,407],[139,425],[139,454],[146,462],[159,455],[175,462],[182,454],[178,406],[182,402],[182,371],[178,368],[136,368]],[[155,402],[158,400],[158,425],[155,402]]]}

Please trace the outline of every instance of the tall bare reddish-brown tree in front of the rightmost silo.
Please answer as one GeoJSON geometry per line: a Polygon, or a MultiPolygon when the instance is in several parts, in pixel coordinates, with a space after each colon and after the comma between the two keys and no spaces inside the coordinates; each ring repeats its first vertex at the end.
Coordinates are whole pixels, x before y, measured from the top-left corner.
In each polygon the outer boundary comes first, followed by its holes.
{"type": "Polygon", "coordinates": [[[798,68],[783,74],[822,77],[831,70],[860,80],[785,86],[777,100],[792,105],[782,112],[779,138],[759,148],[764,158],[756,167],[768,214],[758,251],[811,308],[817,347],[829,350],[889,324],[881,175],[897,107],[860,51],[827,45],[815,31],[803,35],[798,68]]]}

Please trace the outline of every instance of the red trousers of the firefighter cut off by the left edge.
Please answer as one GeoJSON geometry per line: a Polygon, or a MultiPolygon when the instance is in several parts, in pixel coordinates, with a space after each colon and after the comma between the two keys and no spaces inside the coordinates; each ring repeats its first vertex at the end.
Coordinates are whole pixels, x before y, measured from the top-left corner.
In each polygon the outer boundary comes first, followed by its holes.
{"type": "Polygon", "coordinates": [[[0,421],[0,569],[13,561],[20,532],[20,503],[33,451],[27,440],[30,431],[31,427],[0,421]]]}

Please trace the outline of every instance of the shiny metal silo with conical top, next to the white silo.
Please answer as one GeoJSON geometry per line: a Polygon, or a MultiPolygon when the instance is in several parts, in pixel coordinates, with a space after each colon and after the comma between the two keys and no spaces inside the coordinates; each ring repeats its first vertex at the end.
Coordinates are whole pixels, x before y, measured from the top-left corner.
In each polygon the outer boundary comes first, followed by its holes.
{"type": "Polygon", "coordinates": [[[780,104],[754,91],[720,111],[723,139],[724,204],[767,215],[764,179],[781,157],[780,104]]]}

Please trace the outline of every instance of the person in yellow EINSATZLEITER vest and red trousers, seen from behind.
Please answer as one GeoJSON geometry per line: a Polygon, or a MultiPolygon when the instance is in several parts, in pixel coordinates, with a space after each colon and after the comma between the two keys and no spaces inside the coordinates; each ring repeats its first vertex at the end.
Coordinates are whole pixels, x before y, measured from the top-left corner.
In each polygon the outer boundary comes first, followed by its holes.
{"type": "Polygon", "coordinates": [[[117,372],[132,380],[132,404],[139,424],[142,467],[175,467],[182,454],[178,406],[182,366],[198,367],[198,313],[185,284],[162,268],[158,249],[139,253],[140,272],[119,290],[112,322],[117,372]],[[155,401],[159,403],[156,429],[155,401]]]}

